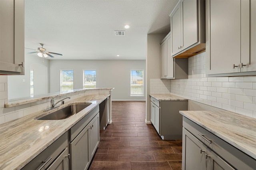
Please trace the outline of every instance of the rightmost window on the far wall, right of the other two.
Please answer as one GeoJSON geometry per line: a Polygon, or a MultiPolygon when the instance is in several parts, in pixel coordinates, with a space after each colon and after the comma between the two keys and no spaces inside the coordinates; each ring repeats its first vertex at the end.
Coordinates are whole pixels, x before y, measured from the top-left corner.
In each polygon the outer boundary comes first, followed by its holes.
{"type": "Polygon", "coordinates": [[[144,70],[131,70],[131,96],[144,96],[144,70]]]}

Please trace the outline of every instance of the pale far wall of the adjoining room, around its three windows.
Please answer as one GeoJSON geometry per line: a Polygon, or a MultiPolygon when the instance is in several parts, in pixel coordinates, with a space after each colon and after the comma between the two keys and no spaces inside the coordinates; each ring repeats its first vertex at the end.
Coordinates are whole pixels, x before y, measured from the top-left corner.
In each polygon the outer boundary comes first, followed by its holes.
{"type": "Polygon", "coordinates": [[[74,70],[74,89],[82,89],[82,70],[96,69],[97,87],[114,87],[112,100],[145,100],[144,97],[130,97],[130,70],[144,70],[145,60],[51,60],[50,61],[50,93],[60,91],[60,69],[74,70]]]}

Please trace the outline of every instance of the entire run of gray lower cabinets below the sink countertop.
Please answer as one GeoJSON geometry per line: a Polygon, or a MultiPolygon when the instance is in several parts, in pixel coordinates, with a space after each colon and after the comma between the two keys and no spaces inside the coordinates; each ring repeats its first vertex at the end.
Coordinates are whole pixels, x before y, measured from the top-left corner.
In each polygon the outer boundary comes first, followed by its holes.
{"type": "Polygon", "coordinates": [[[100,143],[99,111],[99,106],[90,111],[22,170],[88,169],[100,143]]]}

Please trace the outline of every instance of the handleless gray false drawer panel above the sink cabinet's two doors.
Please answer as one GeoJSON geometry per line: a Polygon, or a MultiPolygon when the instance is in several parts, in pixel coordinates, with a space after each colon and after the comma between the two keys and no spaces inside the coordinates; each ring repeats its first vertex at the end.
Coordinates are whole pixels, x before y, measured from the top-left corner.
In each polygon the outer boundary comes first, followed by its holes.
{"type": "Polygon", "coordinates": [[[94,108],[90,113],[88,113],[83,119],[81,119],[76,125],[74,125],[72,128],[70,128],[70,134],[71,138],[70,141],[74,140],[76,136],[83,130],[86,125],[97,115],[97,113],[100,111],[99,106],[94,108]]]}

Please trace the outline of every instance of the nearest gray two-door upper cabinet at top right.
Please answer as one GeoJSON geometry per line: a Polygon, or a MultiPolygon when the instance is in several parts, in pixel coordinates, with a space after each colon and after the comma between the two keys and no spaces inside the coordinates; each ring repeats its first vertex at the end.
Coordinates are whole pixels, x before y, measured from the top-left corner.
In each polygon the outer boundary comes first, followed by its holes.
{"type": "Polygon", "coordinates": [[[206,74],[256,74],[255,11],[255,0],[206,0],[206,74]]]}

